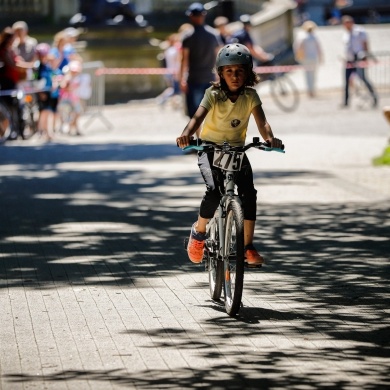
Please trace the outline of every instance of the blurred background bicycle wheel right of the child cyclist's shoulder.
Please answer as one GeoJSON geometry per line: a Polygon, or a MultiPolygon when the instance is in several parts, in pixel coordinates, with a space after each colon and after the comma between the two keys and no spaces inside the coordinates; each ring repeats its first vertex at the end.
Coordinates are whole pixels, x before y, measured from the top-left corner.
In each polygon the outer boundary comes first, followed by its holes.
{"type": "Polygon", "coordinates": [[[276,75],[270,84],[274,103],[285,112],[292,112],[299,104],[299,93],[294,82],[286,75],[276,75]]]}

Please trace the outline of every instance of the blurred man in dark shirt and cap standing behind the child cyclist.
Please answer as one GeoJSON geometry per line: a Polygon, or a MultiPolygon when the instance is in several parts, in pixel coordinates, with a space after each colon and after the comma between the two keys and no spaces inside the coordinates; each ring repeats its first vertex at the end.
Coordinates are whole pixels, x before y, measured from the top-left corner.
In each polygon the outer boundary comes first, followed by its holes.
{"type": "Polygon", "coordinates": [[[183,38],[180,87],[186,96],[187,115],[190,118],[195,114],[210,82],[215,79],[215,58],[222,46],[218,33],[205,25],[206,14],[201,3],[192,3],[186,11],[194,29],[183,38]]]}

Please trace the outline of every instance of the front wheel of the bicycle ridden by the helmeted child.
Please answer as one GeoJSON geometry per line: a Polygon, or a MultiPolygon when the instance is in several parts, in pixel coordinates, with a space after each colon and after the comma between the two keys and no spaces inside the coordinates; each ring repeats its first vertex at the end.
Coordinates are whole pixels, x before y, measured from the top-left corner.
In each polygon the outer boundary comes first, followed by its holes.
{"type": "Polygon", "coordinates": [[[229,201],[225,219],[224,298],[229,316],[241,307],[244,288],[244,214],[240,203],[229,201]]]}

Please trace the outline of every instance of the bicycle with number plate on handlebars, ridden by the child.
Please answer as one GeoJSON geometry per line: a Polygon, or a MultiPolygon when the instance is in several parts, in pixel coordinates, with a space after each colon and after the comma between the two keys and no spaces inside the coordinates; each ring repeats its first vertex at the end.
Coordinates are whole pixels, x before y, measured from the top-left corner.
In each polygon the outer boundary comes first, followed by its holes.
{"type": "MultiPolygon", "coordinates": [[[[224,194],[214,217],[207,224],[203,261],[209,273],[211,298],[219,301],[223,287],[225,310],[232,317],[241,307],[245,267],[244,212],[235,192],[234,176],[241,169],[245,151],[250,148],[284,153],[284,146],[282,149],[271,148],[269,144],[260,142],[258,137],[245,146],[232,146],[227,142],[217,145],[198,139],[183,148],[183,151],[193,149],[214,153],[213,164],[224,174],[224,194]]],[[[188,239],[185,239],[185,248],[187,244],[188,239]]]]}

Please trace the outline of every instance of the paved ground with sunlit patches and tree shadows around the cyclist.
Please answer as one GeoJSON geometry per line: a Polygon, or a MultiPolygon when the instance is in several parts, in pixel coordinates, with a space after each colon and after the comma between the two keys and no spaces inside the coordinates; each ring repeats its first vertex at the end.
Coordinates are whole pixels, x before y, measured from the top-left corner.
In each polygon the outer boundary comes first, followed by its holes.
{"type": "Polygon", "coordinates": [[[267,265],[237,318],[183,250],[204,185],[180,111],[105,107],[111,129],[0,148],[1,389],[389,387],[390,168],[371,161],[390,97],[262,98],[286,153],[249,152],[267,265]]]}

